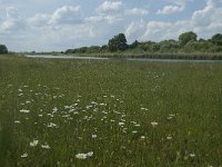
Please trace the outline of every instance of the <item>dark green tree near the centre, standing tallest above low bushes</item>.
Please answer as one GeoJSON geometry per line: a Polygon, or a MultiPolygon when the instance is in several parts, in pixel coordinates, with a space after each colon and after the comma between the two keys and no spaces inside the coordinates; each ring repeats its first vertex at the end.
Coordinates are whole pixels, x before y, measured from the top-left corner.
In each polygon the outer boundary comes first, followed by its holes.
{"type": "Polygon", "coordinates": [[[123,33],[114,36],[112,39],[109,40],[108,48],[110,51],[125,50],[128,48],[125,36],[123,33]]]}

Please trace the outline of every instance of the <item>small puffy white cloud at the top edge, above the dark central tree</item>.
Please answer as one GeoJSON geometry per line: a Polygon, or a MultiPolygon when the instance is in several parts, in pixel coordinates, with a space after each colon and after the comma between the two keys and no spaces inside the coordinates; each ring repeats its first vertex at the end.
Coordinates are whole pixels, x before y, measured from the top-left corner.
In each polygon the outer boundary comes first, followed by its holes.
{"type": "Polygon", "coordinates": [[[104,1],[101,6],[99,6],[99,12],[110,12],[110,11],[118,11],[123,7],[121,1],[104,1]]]}

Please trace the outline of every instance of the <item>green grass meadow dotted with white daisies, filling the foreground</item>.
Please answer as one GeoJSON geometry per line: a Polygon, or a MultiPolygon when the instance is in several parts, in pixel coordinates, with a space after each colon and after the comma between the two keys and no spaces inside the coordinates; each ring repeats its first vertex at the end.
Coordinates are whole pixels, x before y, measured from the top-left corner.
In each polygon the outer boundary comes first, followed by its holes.
{"type": "Polygon", "coordinates": [[[0,57],[0,166],[222,166],[222,63],[0,57]]]}

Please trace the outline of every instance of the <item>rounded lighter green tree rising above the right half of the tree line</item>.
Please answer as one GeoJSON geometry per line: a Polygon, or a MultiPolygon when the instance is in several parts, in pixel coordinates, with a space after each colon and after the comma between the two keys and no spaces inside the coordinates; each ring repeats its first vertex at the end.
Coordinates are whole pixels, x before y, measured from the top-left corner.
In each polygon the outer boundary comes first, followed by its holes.
{"type": "Polygon", "coordinates": [[[184,47],[189,41],[196,41],[196,33],[189,31],[179,36],[179,42],[181,47],[184,47]]]}

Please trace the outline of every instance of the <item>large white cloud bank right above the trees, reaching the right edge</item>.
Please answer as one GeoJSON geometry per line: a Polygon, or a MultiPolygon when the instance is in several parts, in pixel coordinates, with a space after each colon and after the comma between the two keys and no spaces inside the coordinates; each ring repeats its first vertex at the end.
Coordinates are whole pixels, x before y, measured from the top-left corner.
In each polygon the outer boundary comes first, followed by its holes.
{"type": "Polygon", "coordinates": [[[208,0],[206,6],[202,10],[194,11],[190,20],[131,22],[125,35],[133,39],[134,33],[139,32],[137,36],[142,41],[178,39],[179,35],[185,31],[194,31],[201,38],[211,38],[214,33],[222,31],[221,16],[222,8],[214,7],[213,0],[208,0]]]}

